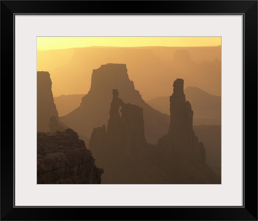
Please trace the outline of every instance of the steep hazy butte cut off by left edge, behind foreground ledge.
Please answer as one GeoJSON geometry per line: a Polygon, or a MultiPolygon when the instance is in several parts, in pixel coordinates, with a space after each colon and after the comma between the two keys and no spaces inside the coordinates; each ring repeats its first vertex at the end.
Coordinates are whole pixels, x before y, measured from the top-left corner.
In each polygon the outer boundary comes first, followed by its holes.
{"type": "MultiPolygon", "coordinates": [[[[37,131],[38,132],[49,132],[50,125],[58,124],[60,131],[64,131],[67,128],[59,121],[58,112],[54,103],[52,94],[52,81],[50,79],[50,73],[48,71],[37,71],[37,131]],[[55,117],[56,122],[54,122],[55,117]],[[59,127],[59,125],[62,125],[59,127]]],[[[53,128],[52,128],[53,129],[53,128]]]]}

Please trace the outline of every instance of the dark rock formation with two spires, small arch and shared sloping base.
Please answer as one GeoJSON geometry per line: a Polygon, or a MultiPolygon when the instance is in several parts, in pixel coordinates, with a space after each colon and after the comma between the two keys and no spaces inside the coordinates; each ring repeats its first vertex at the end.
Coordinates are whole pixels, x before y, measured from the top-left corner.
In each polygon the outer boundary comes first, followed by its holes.
{"type": "Polygon", "coordinates": [[[171,102],[177,108],[172,110],[169,132],[157,146],[145,140],[143,108],[125,104],[118,95],[113,89],[107,132],[105,125],[94,128],[90,138],[89,149],[105,169],[103,184],[221,183],[206,165],[204,145],[194,135],[182,79],[174,83],[171,102]]]}

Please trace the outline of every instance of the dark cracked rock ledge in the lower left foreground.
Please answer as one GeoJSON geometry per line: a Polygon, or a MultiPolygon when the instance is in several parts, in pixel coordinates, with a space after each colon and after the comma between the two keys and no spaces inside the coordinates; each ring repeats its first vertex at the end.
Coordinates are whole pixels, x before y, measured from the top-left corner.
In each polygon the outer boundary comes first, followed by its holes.
{"type": "Polygon", "coordinates": [[[37,184],[100,184],[103,169],[72,129],[37,136],[37,184]]]}

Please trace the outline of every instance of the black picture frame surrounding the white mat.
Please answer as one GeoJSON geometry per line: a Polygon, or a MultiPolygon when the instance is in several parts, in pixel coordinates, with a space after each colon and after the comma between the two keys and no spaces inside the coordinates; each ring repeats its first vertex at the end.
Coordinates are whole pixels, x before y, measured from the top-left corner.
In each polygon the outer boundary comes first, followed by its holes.
{"type": "MultiPolygon", "coordinates": [[[[7,123],[2,121],[2,126],[4,126],[1,134],[1,220],[258,220],[257,130],[252,129],[253,126],[248,124],[252,122],[256,126],[257,122],[257,3],[257,0],[1,1],[1,77],[2,83],[5,85],[12,84],[13,86],[15,14],[242,14],[244,22],[244,195],[242,207],[132,207],[135,208],[134,212],[132,212],[132,208],[123,206],[120,206],[119,210],[117,210],[118,207],[69,207],[69,209],[67,207],[14,207],[14,130],[12,134],[10,129],[6,129],[5,125],[10,125],[12,122],[10,119],[13,119],[14,128],[15,97],[14,87],[13,90],[9,89],[8,93],[6,93],[5,87],[2,87],[2,104],[4,103],[4,105],[1,109],[1,115],[2,119],[9,116],[7,118],[9,120],[7,120],[7,123]],[[125,5],[125,7],[119,7],[121,11],[117,13],[117,5],[125,5]],[[13,99],[10,98],[10,94],[12,94],[13,99]],[[250,97],[252,98],[251,101],[250,97]],[[5,100],[9,100],[10,103],[8,104],[5,100]],[[12,134],[12,136],[7,141],[7,135],[9,134],[12,134]],[[13,146],[10,145],[11,140],[13,140],[13,146]],[[102,209],[104,208],[105,211],[103,212],[102,209]],[[125,215],[121,217],[121,213],[125,215]]],[[[232,111],[234,111],[234,107],[232,107],[232,111]]]]}

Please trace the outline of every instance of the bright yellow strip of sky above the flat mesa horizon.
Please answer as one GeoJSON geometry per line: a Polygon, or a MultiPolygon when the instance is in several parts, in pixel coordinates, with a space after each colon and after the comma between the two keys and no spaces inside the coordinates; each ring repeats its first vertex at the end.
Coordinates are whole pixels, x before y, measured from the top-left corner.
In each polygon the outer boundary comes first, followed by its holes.
{"type": "Polygon", "coordinates": [[[221,37],[37,37],[37,50],[73,47],[202,47],[221,45],[221,37]]]}

